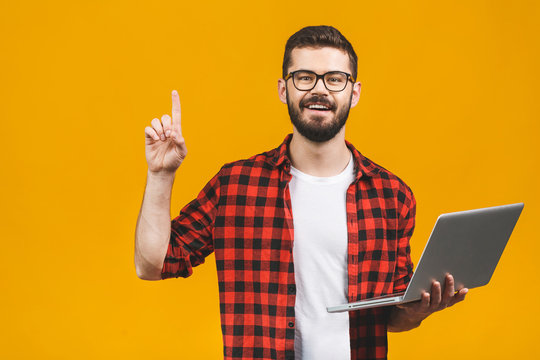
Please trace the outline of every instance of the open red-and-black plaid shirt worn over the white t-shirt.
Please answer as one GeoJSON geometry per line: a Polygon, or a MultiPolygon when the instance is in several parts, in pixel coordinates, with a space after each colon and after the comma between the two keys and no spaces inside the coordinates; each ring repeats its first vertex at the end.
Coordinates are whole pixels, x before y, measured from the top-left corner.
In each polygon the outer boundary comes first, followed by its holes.
{"type": "MultiPolygon", "coordinates": [[[[292,134],[276,149],[225,164],[171,222],[161,277],[187,277],[215,253],[225,359],[294,359],[292,134]]],[[[348,300],[403,291],[412,276],[416,203],[397,176],[349,142],[348,300]]],[[[386,307],[349,313],[352,359],[386,359],[386,307]]]]}

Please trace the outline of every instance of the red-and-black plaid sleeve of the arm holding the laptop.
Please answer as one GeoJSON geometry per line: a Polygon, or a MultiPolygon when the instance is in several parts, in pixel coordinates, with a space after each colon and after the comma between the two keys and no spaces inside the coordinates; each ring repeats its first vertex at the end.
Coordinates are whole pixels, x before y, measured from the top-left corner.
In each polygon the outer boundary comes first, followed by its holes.
{"type": "Polygon", "coordinates": [[[398,251],[394,273],[394,292],[407,289],[413,274],[409,241],[414,232],[416,200],[412,191],[405,186],[398,192],[398,251]]]}

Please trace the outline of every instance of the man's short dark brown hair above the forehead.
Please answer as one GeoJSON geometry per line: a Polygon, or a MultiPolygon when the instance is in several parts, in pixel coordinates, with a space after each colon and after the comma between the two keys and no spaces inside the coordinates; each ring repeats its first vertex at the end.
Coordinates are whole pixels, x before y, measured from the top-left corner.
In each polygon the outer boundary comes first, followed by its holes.
{"type": "Polygon", "coordinates": [[[333,47],[345,51],[349,55],[352,77],[356,79],[358,57],[351,43],[336,28],[332,26],[306,26],[294,33],[285,45],[283,56],[283,77],[287,76],[287,70],[291,64],[291,52],[295,48],[304,47],[333,47]]]}

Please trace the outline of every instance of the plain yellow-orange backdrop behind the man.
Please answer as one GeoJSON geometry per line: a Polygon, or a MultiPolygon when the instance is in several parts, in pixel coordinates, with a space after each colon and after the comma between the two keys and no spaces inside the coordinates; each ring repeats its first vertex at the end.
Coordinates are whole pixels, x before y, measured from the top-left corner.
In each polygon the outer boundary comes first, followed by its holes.
{"type": "Polygon", "coordinates": [[[189,149],[172,214],[229,161],[281,143],[287,38],[331,24],[359,55],[347,139],[441,213],[524,202],[488,286],[391,334],[391,359],[532,359],[538,258],[537,1],[31,1],[0,4],[0,358],[215,359],[213,256],[136,277],[144,127],[178,89],[189,149]]]}

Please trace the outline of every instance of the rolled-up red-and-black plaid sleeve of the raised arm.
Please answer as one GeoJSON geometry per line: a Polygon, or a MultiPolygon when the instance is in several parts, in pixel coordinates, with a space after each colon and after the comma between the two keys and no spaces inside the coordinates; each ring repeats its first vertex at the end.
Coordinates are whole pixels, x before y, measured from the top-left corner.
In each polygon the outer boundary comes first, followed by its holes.
{"type": "Polygon", "coordinates": [[[161,278],[188,277],[214,251],[213,228],[219,199],[219,173],[171,220],[171,236],[161,278]]]}

